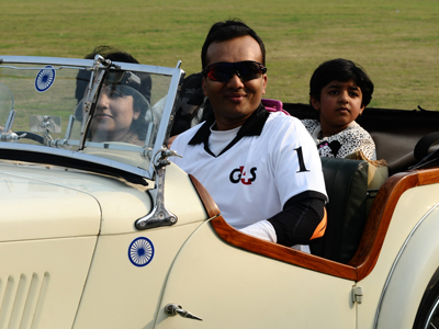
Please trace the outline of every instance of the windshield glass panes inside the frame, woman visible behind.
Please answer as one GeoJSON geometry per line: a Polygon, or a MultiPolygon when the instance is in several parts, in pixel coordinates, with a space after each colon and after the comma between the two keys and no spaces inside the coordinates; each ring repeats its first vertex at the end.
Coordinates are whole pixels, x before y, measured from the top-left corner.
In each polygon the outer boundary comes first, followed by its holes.
{"type": "MultiPolygon", "coordinates": [[[[35,83],[44,79],[45,65],[0,65],[0,134],[4,134],[1,127],[5,126],[12,109],[15,115],[10,132],[18,134],[2,140],[78,150],[83,104],[91,101],[86,99],[91,68],[50,66],[56,75],[46,88],[38,90],[41,83],[35,83]]],[[[145,71],[105,72],[80,151],[148,169],[171,80],[170,75],[145,71]]]]}

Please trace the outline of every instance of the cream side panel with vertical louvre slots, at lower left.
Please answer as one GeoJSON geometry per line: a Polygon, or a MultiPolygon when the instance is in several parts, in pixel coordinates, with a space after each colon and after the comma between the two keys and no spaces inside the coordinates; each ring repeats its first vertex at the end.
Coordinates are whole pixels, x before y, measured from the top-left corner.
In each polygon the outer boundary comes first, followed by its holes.
{"type": "Polygon", "coordinates": [[[71,328],[95,241],[90,236],[1,242],[0,328],[71,328]]]}

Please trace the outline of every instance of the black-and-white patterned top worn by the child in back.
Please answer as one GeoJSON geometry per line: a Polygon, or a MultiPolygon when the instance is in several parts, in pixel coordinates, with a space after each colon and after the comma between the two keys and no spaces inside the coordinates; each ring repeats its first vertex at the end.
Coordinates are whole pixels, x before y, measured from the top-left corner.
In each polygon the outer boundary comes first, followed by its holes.
{"type": "Polygon", "coordinates": [[[371,135],[354,121],[340,133],[324,138],[318,138],[322,131],[318,120],[305,118],[302,120],[302,123],[313,136],[320,157],[345,158],[350,154],[362,150],[369,160],[376,160],[375,144],[371,135]]]}

